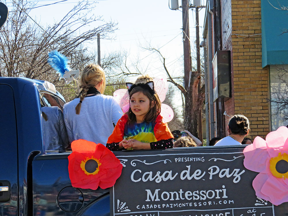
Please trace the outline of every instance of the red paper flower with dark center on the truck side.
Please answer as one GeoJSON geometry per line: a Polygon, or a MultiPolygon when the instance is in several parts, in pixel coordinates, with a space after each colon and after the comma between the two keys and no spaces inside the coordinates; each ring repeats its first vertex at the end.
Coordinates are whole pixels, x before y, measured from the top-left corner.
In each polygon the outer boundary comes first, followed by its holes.
{"type": "Polygon", "coordinates": [[[79,139],[71,143],[71,148],[68,170],[73,187],[105,189],[120,177],[122,164],[104,145],[79,139]]]}

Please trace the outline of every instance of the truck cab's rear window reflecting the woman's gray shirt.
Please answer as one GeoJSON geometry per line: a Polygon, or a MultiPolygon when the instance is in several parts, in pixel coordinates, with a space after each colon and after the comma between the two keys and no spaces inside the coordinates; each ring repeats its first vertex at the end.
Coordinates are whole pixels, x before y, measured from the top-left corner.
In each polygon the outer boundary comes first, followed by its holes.
{"type": "Polygon", "coordinates": [[[70,150],[62,113],[65,102],[48,93],[41,93],[40,99],[45,151],[63,152],[70,150]]]}

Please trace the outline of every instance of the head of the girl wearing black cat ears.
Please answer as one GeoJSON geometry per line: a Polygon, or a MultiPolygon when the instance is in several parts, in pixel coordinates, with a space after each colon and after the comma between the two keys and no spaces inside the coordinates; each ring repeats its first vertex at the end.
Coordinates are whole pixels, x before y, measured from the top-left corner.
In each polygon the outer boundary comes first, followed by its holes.
{"type": "Polygon", "coordinates": [[[156,120],[161,112],[160,99],[154,91],[154,86],[149,84],[153,84],[153,81],[145,84],[130,84],[130,86],[127,84],[130,97],[130,108],[127,114],[130,124],[135,123],[137,119],[151,122],[156,120]]]}

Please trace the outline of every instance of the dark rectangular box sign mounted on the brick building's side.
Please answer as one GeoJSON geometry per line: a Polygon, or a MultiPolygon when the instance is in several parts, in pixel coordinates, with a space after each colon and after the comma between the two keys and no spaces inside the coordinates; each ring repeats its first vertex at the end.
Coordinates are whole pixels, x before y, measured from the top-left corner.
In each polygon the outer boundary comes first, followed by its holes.
{"type": "Polygon", "coordinates": [[[230,50],[218,50],[212,60],[213,101],[231,97],[230,50]]]}

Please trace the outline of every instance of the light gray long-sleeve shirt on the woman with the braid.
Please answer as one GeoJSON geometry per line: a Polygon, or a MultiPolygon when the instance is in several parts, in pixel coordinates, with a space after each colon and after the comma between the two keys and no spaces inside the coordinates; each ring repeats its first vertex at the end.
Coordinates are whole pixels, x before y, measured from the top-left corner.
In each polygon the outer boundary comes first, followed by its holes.
{"type": "Polygon", "coordinates": [[[118,103],[112,96],[98,94],[88,96],[82,101],[80,114],[75,107],[80,99],[66,103],[63,108],[64,122],[69,141],[85,139],[106,145],[114,126],[123,115],[118,103]]]}

